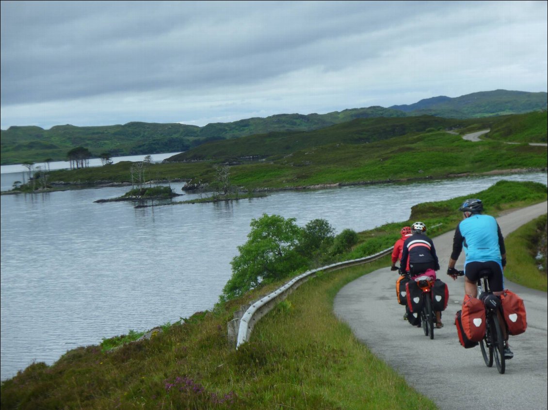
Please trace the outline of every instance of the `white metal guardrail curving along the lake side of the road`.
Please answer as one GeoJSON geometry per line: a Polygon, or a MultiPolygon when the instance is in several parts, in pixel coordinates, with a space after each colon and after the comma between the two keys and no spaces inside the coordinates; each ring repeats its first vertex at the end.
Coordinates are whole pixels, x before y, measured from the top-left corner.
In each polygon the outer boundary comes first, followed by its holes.
{"type": "Polygon", "coordinates": [[[392,252],[393,247],[380,251],[377,254],[362,257],[360,259],[353,259],[350,261],[333,263],[333,265],[324,266],[311,271],[306,271],[300,274],[298,277],[293,278],[281,288],[273,291],[270,295],[263,297],[262,299],[254,302],[250,306],[242,306],[241,309],[234,313],[234,319],[232,319],[227,327],[229,333],[229,339],[236,342],[236,349],[242,343],[249,340],[251,332],[255,323],[259,321],[265,314],[270,312],[277,303],[284,300],[291,292],[298,288],[301,284],[305,283],[308,279],[313,277],[317,272],[321,271],[336,271],[339,269],[362,265],[363,263],[372,262],[380,257],[388,255],[392,252]]]}

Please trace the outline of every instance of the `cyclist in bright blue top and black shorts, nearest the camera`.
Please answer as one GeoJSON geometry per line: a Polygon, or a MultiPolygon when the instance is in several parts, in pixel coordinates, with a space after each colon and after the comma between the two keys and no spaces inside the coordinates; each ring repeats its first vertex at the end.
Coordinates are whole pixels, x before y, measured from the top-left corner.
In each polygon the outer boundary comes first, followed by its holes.
{"type": "MultiPolygon", "coordinates": [[[[483,203],[481,200],[471,198],[464,201],[459,208],[464,219],[456,227],[453,238],[453,252],[449,259],[447,274],[456,278],[456,260],[464,248],[466,260],[464,262],[464,291],[466,295],[477,297],[477,281],[480,271],[490,271],[489,287],[495,295],[502,294],[504,290],[504,267],[506,266],[506,248],[500,226],[495,218],[483,215],[483,203]]],[[[506,325],[504,319],[499,317],[504,332],[505,349],[504,356],[511,359],[513,353],[507,342],[506,325]]]]}

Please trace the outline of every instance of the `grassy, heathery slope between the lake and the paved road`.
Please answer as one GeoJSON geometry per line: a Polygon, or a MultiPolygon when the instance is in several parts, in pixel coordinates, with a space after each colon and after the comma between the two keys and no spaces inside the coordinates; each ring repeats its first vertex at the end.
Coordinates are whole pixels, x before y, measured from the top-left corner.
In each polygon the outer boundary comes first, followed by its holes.
{"type": "MultiPolygon", "coordinates": [[[[501,181],[472,196],[481,197],[487,212],[496,215],[545,201],[547,192],[543,184],[501,181]]],[[[463,198],[419,204],[411,218],[438,225],[429,230],[432,236],[452,230],[463,198]]],[[[360,233],[361,243],[344,259],[353,259],[357,250],[387,248],[393,238],[386,238],[406,223],[360,233]]],[[[284,281],[167,324],[151,339],[110,353],[100,346],[70,350],[53,366],[37,363],[4,382],[1,407],[433,409],[430,400],[376,359],[333,314],[333,299],[342,286],[389,263],[386,256],[301,285],[259,321],[252,341],[238,350],[226,337],[233,311],[284,281]]]]}

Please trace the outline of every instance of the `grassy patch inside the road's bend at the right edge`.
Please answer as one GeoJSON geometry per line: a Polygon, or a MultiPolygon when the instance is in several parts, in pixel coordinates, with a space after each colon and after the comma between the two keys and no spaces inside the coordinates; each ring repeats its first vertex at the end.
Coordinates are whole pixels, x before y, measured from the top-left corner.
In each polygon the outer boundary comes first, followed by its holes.
{"type": "MultiPolygon", "coordinates": [[[[512,282],[544,292],[548,290],[546,259],[538,261],[535,258],[541,237],[543,233],[546,235],[546,219],[547,215],[543,215],[507,236],[505,245],[508,264],[504,271],[504,276],[512,282]],[[539,263],[543,270],[539,270],[539,263]]],[[[546,242],[544,247],[546,249],[546,242]]]]}

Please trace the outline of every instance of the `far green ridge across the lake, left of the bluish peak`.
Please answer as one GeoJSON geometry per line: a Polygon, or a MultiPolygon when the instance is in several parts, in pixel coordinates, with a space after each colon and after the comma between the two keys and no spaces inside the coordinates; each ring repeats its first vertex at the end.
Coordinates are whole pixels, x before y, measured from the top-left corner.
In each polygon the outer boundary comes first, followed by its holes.
{"type": "Polygon", "coordinates": [[[62,161],[75,147],[85,147],[97,157],[102,153],[110,153],[111,156],[169,153],[186,151],[220,139],[265,132],[310,131],[355,118],[405,115],[397,110],[369,107],[323,115],[278,114],[267,118],[218,122],[204,127],[149,122],[99,127],[59,125],[49,130],[36,126],[9,127],[0,132],[0,161],[2,165],[42,162],[45,159],[62,161]]]}

